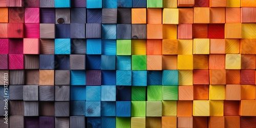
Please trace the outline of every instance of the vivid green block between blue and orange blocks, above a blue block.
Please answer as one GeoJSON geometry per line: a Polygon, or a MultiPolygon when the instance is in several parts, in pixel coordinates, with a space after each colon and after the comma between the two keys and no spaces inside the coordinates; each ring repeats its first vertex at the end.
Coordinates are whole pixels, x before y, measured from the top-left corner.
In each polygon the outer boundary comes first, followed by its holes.
{"type": "Polygon", "coordinates": [[[146,55],[132,55],[132,70],[146,70],[146,55]]]}

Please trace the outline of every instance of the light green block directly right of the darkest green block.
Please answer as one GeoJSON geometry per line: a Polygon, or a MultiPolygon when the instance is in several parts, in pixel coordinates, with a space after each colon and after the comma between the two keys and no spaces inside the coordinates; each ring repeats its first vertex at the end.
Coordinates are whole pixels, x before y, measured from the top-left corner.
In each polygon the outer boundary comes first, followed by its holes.
{"type": "Polygon", "coordinates": [[[147,101],[162,101],[162,86],[147,86],[147,101]]]}

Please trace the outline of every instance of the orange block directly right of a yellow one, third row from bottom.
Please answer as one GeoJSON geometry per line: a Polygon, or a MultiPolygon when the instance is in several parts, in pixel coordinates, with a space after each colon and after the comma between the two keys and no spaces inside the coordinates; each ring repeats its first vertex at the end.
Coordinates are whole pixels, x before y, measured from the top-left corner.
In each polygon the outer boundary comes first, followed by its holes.
{"type": "Polygon", "coordinates": [[[226,84],[225,89],[226,100],[241,100],[241,85],[240,84],[226,84]]]}

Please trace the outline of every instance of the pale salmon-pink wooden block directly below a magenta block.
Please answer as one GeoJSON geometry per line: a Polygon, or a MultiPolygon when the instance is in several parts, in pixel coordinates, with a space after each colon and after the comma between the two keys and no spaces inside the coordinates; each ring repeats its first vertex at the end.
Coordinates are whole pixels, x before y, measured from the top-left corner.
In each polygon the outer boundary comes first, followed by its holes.
{"type": "Polygon", "coordinates": [[[39,54],[39,39],[24,38],[23,39],[23,54],[39,54]]]}

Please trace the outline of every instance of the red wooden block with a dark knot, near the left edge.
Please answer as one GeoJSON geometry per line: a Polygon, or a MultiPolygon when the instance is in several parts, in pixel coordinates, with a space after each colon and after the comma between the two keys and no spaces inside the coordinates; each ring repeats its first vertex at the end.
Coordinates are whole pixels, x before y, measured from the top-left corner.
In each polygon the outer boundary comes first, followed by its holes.
{"type": "Polygon", "coordinates": [[[21,23],[8,24],[8,38],[23,38],[24,37],[24,25],[21,23]]]}

